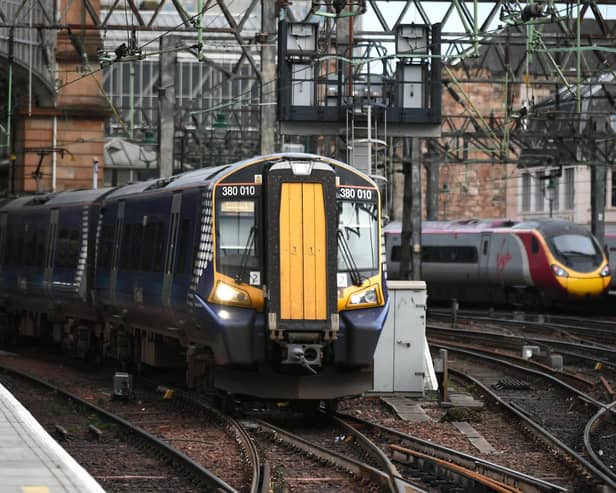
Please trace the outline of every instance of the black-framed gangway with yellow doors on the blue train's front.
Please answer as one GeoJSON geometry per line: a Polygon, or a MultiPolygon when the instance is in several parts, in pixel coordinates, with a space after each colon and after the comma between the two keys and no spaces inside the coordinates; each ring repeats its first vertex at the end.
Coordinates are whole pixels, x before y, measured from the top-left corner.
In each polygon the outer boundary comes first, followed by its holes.
{"type": "Polygon", "coordinates": [[[268,323],[274,338],[284,330],[330,330],[330,320],[337,320],[335,175],[321,163],[302,162],[306,169],[299,171],[293,164],[277,164],[268,176],[268,323]]]}

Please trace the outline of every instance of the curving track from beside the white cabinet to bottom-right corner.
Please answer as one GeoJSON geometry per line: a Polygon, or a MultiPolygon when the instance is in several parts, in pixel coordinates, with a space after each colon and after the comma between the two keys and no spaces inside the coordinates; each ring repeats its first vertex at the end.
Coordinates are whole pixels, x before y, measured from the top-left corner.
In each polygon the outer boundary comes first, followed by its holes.
{"type": "MultiPolygon", "coordinates": [[[[455,354],[449,371],[481,389],[509,410],[551,450],[586,477],[583,487],[616,489],[616,475],[606,457],[584,446],[584,430],[606,405],[546,372],[516,365],[502,358],[453,346],[433,344],[455,354]]],[[[610,463],[613,459],[609,459],[610,463]]]]}

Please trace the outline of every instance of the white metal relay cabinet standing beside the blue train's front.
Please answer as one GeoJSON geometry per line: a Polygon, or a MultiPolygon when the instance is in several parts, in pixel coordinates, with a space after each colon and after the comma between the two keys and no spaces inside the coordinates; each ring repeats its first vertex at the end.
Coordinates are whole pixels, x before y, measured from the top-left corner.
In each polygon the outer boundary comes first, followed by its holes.
{"type": "Polygon", "coordinates": [[[426,344],[426,283],[389,281],[389,314],[374,353],[374,392],[424,392],[432,370],[426,344]],[[426,356],[426,354],[428,356],[426,356]]]}

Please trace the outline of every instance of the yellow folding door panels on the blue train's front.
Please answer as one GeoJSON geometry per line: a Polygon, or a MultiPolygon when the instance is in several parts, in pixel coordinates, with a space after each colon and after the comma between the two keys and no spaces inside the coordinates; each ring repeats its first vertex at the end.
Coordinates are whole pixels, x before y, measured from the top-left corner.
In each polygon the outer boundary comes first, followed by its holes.
{"type": "Polygon", "coordinates": [[[327,248],[323,185],[282,183],[280,319],[327,318],[327,248]]]}

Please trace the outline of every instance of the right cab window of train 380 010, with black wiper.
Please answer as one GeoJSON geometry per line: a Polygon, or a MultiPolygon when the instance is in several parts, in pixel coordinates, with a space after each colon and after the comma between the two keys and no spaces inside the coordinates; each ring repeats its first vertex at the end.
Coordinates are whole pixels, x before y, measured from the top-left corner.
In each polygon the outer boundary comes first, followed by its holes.
{"type": "Polygon", "coordinates": [[[338,270],[378,270],[378,220],[374,202],[338,203],[338,270]],[[354,264],[354,266],[353,266],[354,264]]]}

